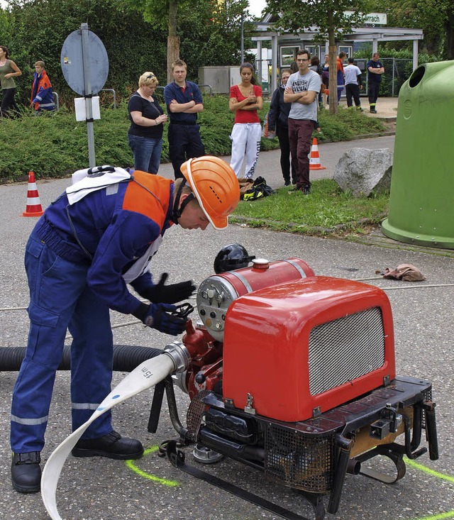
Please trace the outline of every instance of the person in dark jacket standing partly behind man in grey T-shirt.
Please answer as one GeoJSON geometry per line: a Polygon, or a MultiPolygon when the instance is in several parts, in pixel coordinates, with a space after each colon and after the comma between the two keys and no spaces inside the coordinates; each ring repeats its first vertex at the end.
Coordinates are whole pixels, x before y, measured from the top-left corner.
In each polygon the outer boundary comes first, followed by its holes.
{"type": "MultiPolygon", "coordinates": [[[[284,89],[290,72],[284,70],[281,76],[281,86],[272,94],[270,111],[268,112],[268,128],[270,131],[276,131],[281,148],[281,170],[284,177],[285,186],[290,184],[290,145],[289,145],[289,117],[290,107],[292,103],[284,103],[284,89]]],[[[292,183],[295,184],[294,166],[292,164],[292,183]]]]}

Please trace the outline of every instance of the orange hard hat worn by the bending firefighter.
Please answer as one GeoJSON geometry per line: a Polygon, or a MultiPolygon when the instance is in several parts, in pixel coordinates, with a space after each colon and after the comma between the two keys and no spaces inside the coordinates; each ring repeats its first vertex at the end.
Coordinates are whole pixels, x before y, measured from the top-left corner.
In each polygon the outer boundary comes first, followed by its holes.
{"type": "Polygon", "coordinates": [[[240,184],[228,163],[213,155],[184,162],[182,174],[215,229],[227,227],[227,216],[240,201],[240,184]]]}

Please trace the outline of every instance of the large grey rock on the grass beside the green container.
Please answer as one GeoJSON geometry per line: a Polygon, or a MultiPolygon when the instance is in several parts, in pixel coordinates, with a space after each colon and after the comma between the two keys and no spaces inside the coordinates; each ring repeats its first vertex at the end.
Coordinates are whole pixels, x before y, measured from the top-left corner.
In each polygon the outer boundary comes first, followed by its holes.
{"type": "Polygon", "coordinates": [[[355,197],[389,192],[391,186],[392,152],[389,148],[369,150],[351,148],[339,159],[334,180],[344,192],[355,197]]]}

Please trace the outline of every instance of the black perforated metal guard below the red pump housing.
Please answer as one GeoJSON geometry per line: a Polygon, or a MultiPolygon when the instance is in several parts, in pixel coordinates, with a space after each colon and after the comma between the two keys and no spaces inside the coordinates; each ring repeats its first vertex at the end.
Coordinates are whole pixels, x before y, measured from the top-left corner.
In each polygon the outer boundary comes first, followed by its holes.
{"type": "Polygon", "coordinates": [[[265,475],[311,493],[333,486],[334,436],[305,436],[276,424],[265,431],[265,475]]]}

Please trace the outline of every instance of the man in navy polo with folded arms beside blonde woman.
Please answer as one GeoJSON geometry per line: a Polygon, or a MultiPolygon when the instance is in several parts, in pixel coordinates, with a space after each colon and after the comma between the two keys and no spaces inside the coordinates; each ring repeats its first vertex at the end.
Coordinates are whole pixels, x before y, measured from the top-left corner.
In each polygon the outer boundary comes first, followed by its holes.
{"type": "Polygon", "coordinates": [[[205,155],[201,142],[197,114],[204,109],[199,87],[186,80],[187,65],[183,60],[172,63],[174,80],[164,89],[164,101],[170,116],[167,131],[169,155],[175,179],[182,177],[180,170],[184,161],[205,155]]]}

